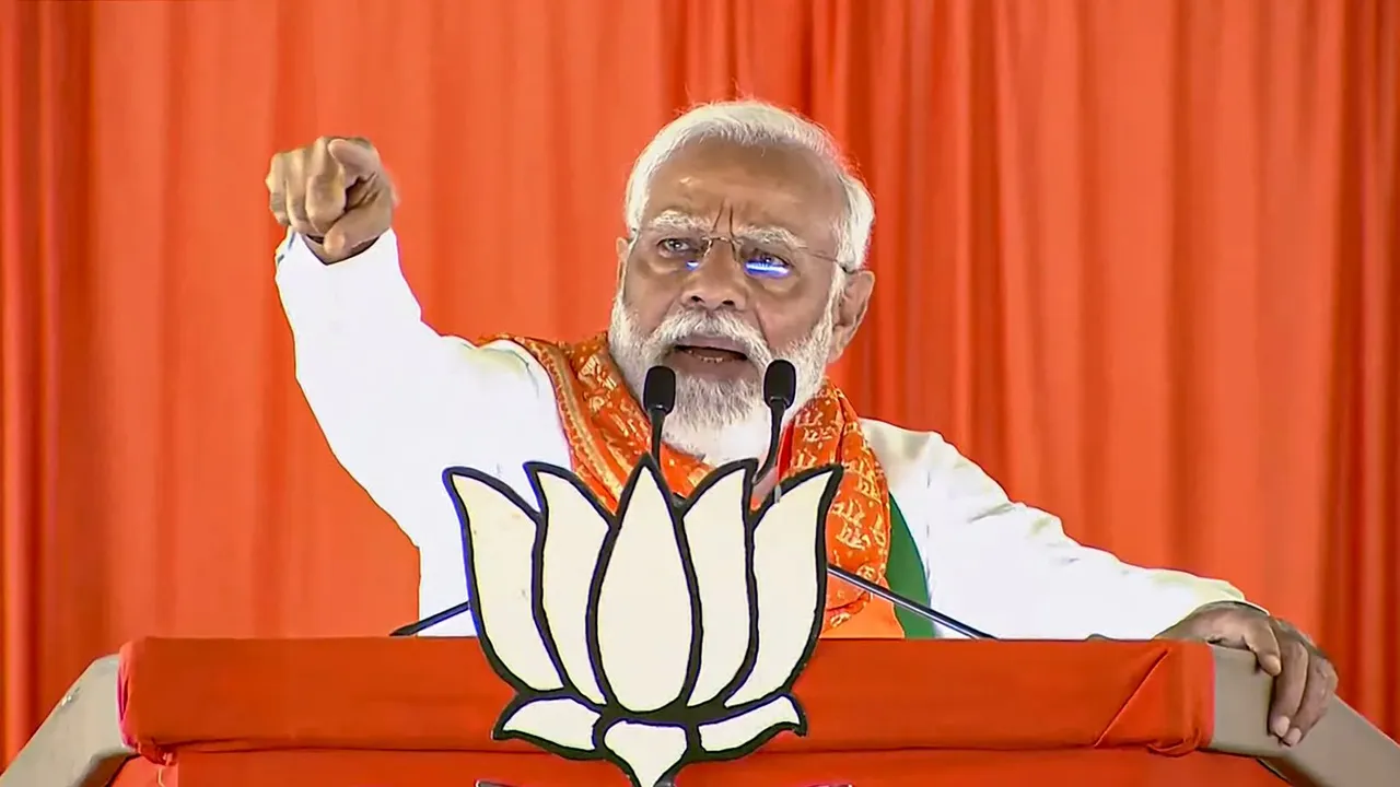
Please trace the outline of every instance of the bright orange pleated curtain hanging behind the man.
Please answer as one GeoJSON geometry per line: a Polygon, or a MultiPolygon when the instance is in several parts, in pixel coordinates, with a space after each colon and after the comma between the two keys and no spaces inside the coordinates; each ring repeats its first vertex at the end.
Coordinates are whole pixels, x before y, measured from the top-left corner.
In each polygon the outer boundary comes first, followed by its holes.
{"type": "Polygon", "coordinates": [[[879,209],[837,371],[1126,559],[1224,576],[1400,734],[1390,0],[0,0],[0,738],[143,634],[377,634],[416,559],[293,378],[269,155],[363,134],[440,330],[605,323],[697,99],[879,209]]]}

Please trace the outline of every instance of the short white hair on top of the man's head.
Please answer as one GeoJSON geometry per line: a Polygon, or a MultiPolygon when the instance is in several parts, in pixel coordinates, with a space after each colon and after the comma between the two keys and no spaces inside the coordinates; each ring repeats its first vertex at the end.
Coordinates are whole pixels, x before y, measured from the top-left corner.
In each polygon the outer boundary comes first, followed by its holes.
{"type": "Polygon", "coordinates": [[[629,231],[636,232],[641,227],[641,216],[651,196],[651,179],[657,171],[682,147],[708,139],[746,147],[795,147],[815,154],[832,168],[846,195],[844,221],[836,228],[836,258],[847,270],[865,265],[871,225],[875,224],[875,202],[865,183],[846,164],[836,140],[806,118],[753,99],[696,106],[652,137],[627,178],[623,220],[629,231]]]}

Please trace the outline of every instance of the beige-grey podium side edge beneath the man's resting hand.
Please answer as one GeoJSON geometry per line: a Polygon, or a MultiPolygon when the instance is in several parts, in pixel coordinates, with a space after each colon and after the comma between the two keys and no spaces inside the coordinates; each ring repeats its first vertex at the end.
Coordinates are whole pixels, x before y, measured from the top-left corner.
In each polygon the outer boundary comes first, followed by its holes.
{"type": "MultiPolygon", "coordinates": [[[[1271,678],[1254,655],[1212,647],[1215,655],[1215,752],[1252,756],[1298,787],[1400,784],[1400,745],[1337,697],[1296,746],[1268,734],[1271,678]]],[[[4,786],[8,787],[8,786],[4,786]]]]}

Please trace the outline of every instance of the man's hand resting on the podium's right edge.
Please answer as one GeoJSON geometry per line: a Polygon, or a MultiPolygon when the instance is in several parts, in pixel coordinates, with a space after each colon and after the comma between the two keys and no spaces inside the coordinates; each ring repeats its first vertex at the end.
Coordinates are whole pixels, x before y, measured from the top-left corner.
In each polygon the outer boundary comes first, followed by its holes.
{"type": "Polygon", "coordinates": [[[1268,731],[1289,746],[1317,724],[1337,692],[1337,671],[1327,655],[1292,625],[1252,606],[1203,606],[1161,637],[1253,653],[1260,669],[1274,676],[1268,731]]]}

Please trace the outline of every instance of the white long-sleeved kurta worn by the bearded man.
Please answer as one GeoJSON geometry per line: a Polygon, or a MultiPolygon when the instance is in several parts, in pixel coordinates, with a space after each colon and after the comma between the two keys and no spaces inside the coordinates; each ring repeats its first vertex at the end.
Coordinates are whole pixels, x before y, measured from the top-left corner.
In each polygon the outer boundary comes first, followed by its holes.
{"type": "MultiPolygon", "coordinates": [[[[462,535],[442,471],[479,468],[533,500],[522,464],[570,466],[549,375],[514,343],[476,347],[424,325],[392,232],[329,266],[288,235],[277,260],[297,379],[330,450],[417,546],[421,615],[459,604],[462,535]]],[[[973,627],[1004,639],[1149,639],[1197,606],[1242,598],[1226,583],[1127,566],[1077,543],[935,433],[862,426],[918,546],[931,606],[973,627]]],[[[472,620],[426,633],[470,634],[472,620]]]]}

